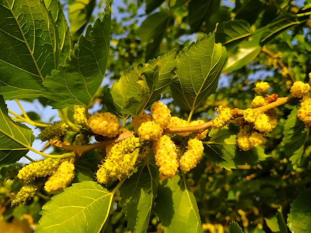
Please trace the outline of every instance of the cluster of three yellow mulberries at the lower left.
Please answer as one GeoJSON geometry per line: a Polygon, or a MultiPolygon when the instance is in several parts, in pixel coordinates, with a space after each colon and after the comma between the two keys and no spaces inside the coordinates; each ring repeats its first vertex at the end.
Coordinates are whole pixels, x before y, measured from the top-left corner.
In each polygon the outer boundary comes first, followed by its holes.
{"type": "Polygon", "coordinates": [[[68,160],[47,158],[25,165],[16,175],[10,175],[23,186],[11,193],[11,205],[23,205],[43,187],[49,193],[55,193],[67,187],[75,177],[75,166],[68,160]]]}

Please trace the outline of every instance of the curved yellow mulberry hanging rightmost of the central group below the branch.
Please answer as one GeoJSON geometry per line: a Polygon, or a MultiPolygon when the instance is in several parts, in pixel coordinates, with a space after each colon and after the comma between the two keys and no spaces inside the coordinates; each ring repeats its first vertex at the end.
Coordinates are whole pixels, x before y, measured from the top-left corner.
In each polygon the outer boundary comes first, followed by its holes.
{"type": "Polygon", "coordinates": [[[184,172],[188,172],[197,166],[202,159],[204,147],[201,140],[190,138],[186,149],[187,151],[179,159],[180,169],[184,172]]]}

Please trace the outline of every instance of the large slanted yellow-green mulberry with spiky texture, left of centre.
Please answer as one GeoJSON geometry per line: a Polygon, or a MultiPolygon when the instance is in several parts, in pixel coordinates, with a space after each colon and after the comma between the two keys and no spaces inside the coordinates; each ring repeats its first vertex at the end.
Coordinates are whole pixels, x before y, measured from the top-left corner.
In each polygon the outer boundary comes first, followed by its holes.
{"type": "Polygon", "coordinates": [[[98,166],[97,181],[107,184],[110,180],[123,179],[129,176],[134,165],[146,159],[148,149],[143,145],[141,147],[141,145],[141,139],[138,137],[128,137],[114,144],[105,160],[98,166]],[[138,160],[140,155],[142,158],[138,160]]]}

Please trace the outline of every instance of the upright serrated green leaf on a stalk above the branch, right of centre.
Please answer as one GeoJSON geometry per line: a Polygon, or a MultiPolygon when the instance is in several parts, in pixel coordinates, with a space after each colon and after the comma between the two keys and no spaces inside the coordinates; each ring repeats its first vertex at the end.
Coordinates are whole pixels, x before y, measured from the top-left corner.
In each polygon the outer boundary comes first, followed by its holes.
{"type": "Polygon", "coordinates": [[[226,58],[225,47],[215,44],[215,32],[179,52],[178,79],[172,83],[171,91],[180,108],[193,111],[215,92],[226,58]]]}

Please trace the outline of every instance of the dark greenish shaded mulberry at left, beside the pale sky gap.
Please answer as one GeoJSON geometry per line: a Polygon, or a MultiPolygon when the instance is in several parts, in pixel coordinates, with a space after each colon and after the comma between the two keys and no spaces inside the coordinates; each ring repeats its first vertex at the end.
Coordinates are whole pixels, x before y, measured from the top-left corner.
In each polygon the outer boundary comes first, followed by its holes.
{"type": "Polygon", "coordinates": [[[69,126],[63,121],[55,122],[48,127],[45,127],[39,134],[41,141],[47,141],[52,138],[60,138],[68,130],[69,126]]]}

